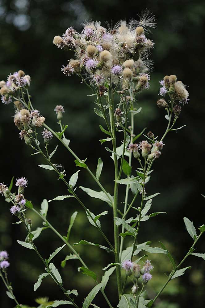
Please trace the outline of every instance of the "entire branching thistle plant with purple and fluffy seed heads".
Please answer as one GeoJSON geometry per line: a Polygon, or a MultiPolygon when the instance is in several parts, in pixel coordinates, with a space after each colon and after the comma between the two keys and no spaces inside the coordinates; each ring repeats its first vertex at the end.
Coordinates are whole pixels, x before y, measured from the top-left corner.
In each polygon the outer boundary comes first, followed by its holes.
{"type": "MultiPolygon", "coordinates": [[[[32,249],[45,268],[44,273],[39,276],[34,284],[34,291],[40,287],[44,278],[51,276],[57,287],[63,292],[62,300],[57,299],[53,302],[45,300],[39,307],[57,307],[64,304],[79,307],[75,298],[78,295],[77,290],[66,289],[59,270],[51,262],[62,249],[67,249],[70,254],[61,262],[61,267],[64,268],[68,260],[78,259],[78,272],[89,276],[96,284],[82,303],[83,308],[88,308],[90,305],[97,307],[92,302],[98,292],[102,293],[105,300],[101,308],[113,308],[116,302],[119,302],[117,306],[119,308],[154,306],[155,301],[169,281],[185,274],[185,271],[190,268],[182,268],[183,262],[189,255],[202,257],[205,260],[205,253],[194,252],[195,244],[205,231],[205,226],[199,227],[199,231],[196,232],[193,223],[186,217],[184,222],[193,239],[193,244],[178,265],[163,243],[160,242],[161,247],[152,247],[149,242],[140,243],[142,223],[144,224],[151,217],[165,213],[148,213],[153,199],[159,193],[149,195],[146,184],[153,176],[152,167],[155,160],[160,159],[160,156],[163,155],[164,146],[169,147],[169,144],[165,145],[164,143],[166,135],[168,132],[183,127],[176,128],[175,124],[179,119],[182,107],[189,101],[189,93],[182,81],[179,81],[176,75],[167,75],[159,81],[160,98],[156,99],[156,107],[162,109],[161,114],[165,115],[167,120],[165,131],[161,133],[161,136],[155,136],[151,131],[145,134],[145,129],[137,132],[137,128],[134,127],[134,117],[140,116],[141,111],[141,107],[138,107],[137,103],[138,94],[149,90],[149,72],[153,67],[149,56],[154,47],[153,41],[149,39],[149,33],[150,28],[154,29],[155,27],[155,17],[145,11],[140,15],[139,21],[131,20],[128,23],[120,21],[113,28],[109,26],[105,28],[101,26],[100,22],[85,22],[81,32],[69,27],[62,36],[55,36],[53,39],[53,44],[59,49],[73,51],[73,59],[64,63],[61,70],[66,78],[77,75],[81,82],[85,83],[91,92],[90,95],[95,99],[95,114],[104,120],[104,127],[99,125],[99,128],[105,134],[105,137],[99,141],[103,148],[104,143],[108,144],[105,150],[110,156],[108,159],[111,159],[114,164],[114,187],[110,192],[100,182],[103,169],[102,159],[98,158],[96,173],[94,173],[90,170],[87,161],[80,159],[69,146],[68,125],[63,123],[63,115],[69,106],[65,106],[65,109],[62,105],[55,107],[54,112],[60,129],[56,132],[56,128],[50,128],[46,124],[44,115],[41,115],[40,111],[32,105],[31,95],[29,94],[31,82],[29,75],[20,70],[10,74],[6,81],[0,82],[2,103],[8,105],[13,102],[15,106],[14,124],[19,130],[19,138],[30,147],[31,155],[40,154],[42,156],[43,164],[40,167],[47,169],[48,173],[56,172],[57,178],[62,181],[69,192],[68,195],[57,196],[49,202],[74,198],[79,206],[85,210],[92,227],[97,229],[96,232],[106,242],[106,246],[103,246],[92,243],[89,239],[82,239],[71,245],[69,240],[77,212],[71,215],[67,235],[63,236],[47,220],[48,201],[44,199],[40,211],[35,209],[31,201],[28,201],[32,196],[29,197],[26,194],[29,181],[25,177],[21,176],[16,179],[17,193],[12,190],[13,179],[9,187],[1,183],[0,193],[11,205],[10,213],[16,217],[17,224],[22,223],[25,226],[26,240],[18,240],[19,244],[25,249],[32,249]],[[54,155],[58,150],[58,144],[55,148],[52,148],[50,144],[52,138],[63,144],[74,157],[78,171],[73,175],[67,174],[64,169],[59,168],[61,162],[56,164],[54,155]],[[77,181],[80,181],[80,178],[78,179],[80,169],[89,173],[98,185],[98,191],[84,186],[77,187],[77,181]],[[90,197],[103,201],[102,206],[106,205],[106,208],[102,213],[93,213],[87,208],[87,205],[79,197],[79,188],[90,197]],[[125,190],[123,200],[119,200],[119,189],[125,190]],[[41,218],[43,227],[33,230],[29,211],[36,213],[41,218]],[[111,215],[113,218],[113,227],[110,227],[109,238],[103,231],[104,215],[111,215]],[[57,248],[50,257],[45,257],[45,255],[39,253],[36,239],[41,232],[48,228],[61,239],[63,245],[57,248]],[[125,237],[130,238],[132,245],[125,247],[125,237]],[[102,264],[102,277],[97,277],[92,268],[88,268],[83,256],[80,256],[75,248],[78,245],[94,245],[102,249],[102,253],[103,250],[105,253],[110,253],[110,264],[102,264]],[[152,261],[147,259],[148,255],[143,255],[141,252],[149,253],[150,259],[150,254],[162,253],[168,257],[173,267],[166,283],[154,298],[148,298],[146,288],[149,281],[154,279],[157,268],[154,269],[152,261]],[[139,253],[141,253],[140,256],[139,253]],[[111,275],[116,277],[114,287],[116,287],[118,298],[115,299],[108,298],[105,290],[111,275]]],[[[111,181],[111,183],[113,182],[111,181]]],[[[19,308],[20,305],[7,278],[9,262],[6,251],[1,251],[0,260],[0,276],[7,288],[7,295],[15,301],[16,307],[19,308]]]]}

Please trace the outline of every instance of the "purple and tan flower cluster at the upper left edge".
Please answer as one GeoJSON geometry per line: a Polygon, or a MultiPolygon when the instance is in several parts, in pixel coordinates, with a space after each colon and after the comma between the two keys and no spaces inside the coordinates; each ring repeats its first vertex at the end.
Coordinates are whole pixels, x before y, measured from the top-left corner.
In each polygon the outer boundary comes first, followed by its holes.
{"type": "Polygon", "coordinates": [[[12,96],[16,91],[30,86],[31,77],[25,75],[24,71],[20,70],[10,74],[6,80],[0,81],[1,101],[7,105],[12,101],[12,96]]]}

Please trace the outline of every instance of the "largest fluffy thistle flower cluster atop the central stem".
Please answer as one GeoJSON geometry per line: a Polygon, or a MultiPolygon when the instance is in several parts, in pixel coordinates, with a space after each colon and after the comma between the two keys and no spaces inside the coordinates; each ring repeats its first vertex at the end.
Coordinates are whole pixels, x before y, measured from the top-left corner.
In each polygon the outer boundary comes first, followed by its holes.
{"type": "Polygon", "coordinates": [[[86,22],[81,32],[68,28],[61,36],[55,36],[53,44],[58,48],[72,50],[76,59],[62,67],[65,75],[77,74],[94,86],[103,86],[111,78],[121,90],[139,92],[149,88],[151,63],[148,55],[153,41],[145,36],[149,27],[155,28],[155,18],[146,12],[140,21],[118,22],[112,29],[100,22],[86,22]],[[149,18],[148,18],[149,17],[149,18]],[[144,60],[146,59],[146,60],[144,60]]]}

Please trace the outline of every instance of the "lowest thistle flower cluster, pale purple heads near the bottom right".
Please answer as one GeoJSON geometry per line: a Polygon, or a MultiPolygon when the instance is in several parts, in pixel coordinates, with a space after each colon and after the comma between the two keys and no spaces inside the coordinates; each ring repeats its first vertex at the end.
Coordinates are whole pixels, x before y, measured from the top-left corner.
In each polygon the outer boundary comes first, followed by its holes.
{"type": "MultiPolygon", "coordinates": [[[[139,279],[142,276],[142,283],[145,285],[152,278],[150,271],[154,269],[154,266],[150,263],[150,260],[144,262],[141,268],[138,263],[132,262],[131,260],[125,260],[122,263],[122,268],[125,270],[127,276],[133,276],[139,279]]],[[[135,285],[132,287],[132,294],[135,294],[135,285]]],[[[136,289],[137,290],[137,289],[136,289]]]]}

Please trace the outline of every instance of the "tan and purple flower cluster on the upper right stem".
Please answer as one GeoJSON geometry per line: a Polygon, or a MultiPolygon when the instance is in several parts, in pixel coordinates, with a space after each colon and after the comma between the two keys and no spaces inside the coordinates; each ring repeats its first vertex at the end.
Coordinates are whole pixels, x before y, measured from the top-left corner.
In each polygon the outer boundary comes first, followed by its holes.
{"type": "MultiPolygon", "coordinates": [[[[177,80],[176,75],[166,75],[159,83],[161,84],[159,95],[169,95],[174,98],[175,102],[177,101],[182,104],[188,103],[189,92],[186,90],[186,86],[182,83],[182,81],[177,80]]],[[[168,104],[164,99],[159,99],[157,101],[157,106],[166,108],[168,107],[168,104]]]]}

